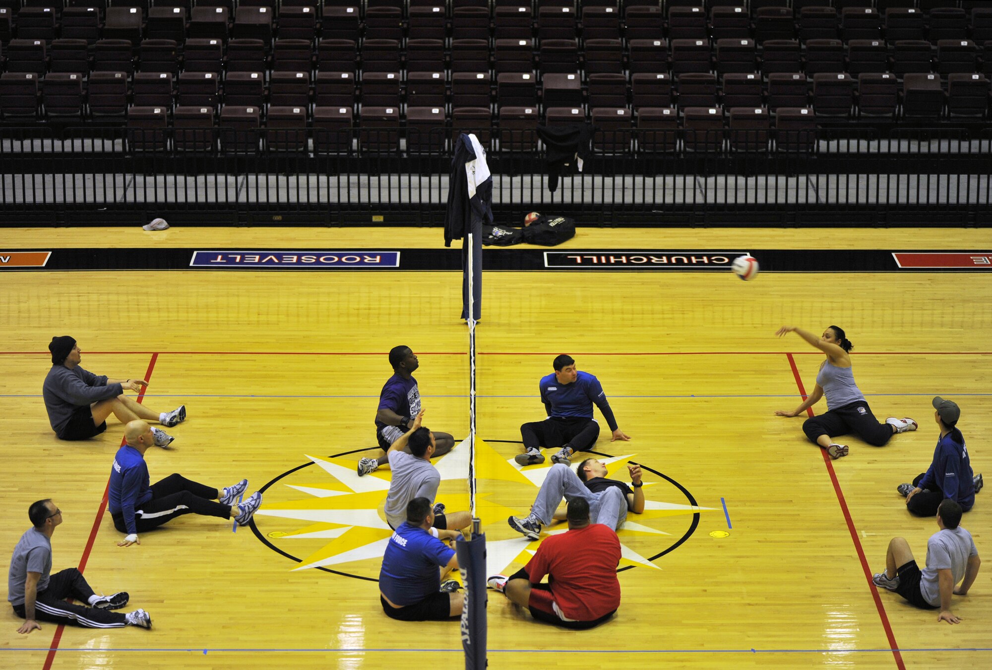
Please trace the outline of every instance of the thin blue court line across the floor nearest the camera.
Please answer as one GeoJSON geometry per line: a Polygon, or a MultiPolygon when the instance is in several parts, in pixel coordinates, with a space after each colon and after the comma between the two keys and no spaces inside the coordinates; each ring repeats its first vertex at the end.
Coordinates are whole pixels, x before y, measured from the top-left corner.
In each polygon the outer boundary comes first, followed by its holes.
{"type": "MultiPolygon", "coordinates": [[[[0,651],[52,651],[50,647],[6,647],[0,651]]],[[[113,647],[101,647],[101,648],[87,648],[87,649],[72,649],[67,647],[60,647],[60,652],[66,653],[71,651],[77,652],[91,652],[91,653],[107,653],[107,652],[197,652],[206,654],[207,652],[226,652],[226,653],[288,653],[288,652],[301,652],[301,653],[370,653],[370,652],[404,652],[410,653],[412,651],[417,652],[428,652],[428,653],[464,653],[461,647],[455,649],[386,649],[386,648],[360,648],[360,647],[349,647],[349,648],[303,648],[303,649],[255,649],[255,648],[242,648],[242,647],[218,647],[218,648],[113,648],[113,647]]],[[[540,653],[540,654],[862,654],[862,653],[885,653],[891,654],[892,649],[882,647],[878,649],[487,649],[488,653],[493,654],[514,654],[514,653],[540,653]]],[[[963,648],[952,648],[952,647],[920,647],[913,649],[906,649],[903,647],[899,648],[900,653],[914,653],[914,652],[925,652],[932,653],[934,651],[938,652],[950,652],[950,651],[992,651],[992,647],[963,647],[963,648]]]]}

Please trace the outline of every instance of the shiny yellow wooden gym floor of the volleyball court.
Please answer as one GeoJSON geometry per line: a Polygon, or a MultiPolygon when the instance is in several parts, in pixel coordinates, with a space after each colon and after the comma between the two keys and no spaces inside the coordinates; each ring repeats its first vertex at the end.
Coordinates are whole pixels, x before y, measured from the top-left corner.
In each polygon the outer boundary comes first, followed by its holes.
{"type": "MultiPolygon", "coordinates": [[[[390,228],[0,231],[6,249],[423,248],[439,247],[440,237],[390,228]]],[[[734,244],[988,251],[992,235],[594,229],[565,248],[734,244]]],[[[54,498],[64,512],[54,569],[81,565],[98,590],[128,591],[155,626],[43,623],[23,636],[7,608],[0,666],[462,667],[456,622],[404,624],[382,613],[368,578],[378,575],[387,537],[389,472],[358,479],[353,470],[374,447],[377,397],[391,373],[386,352],[399,343],[420,356],[427,425],[459,440],[467,434],[458,273],[7,272],[0,281],[0,547],[9,556],[28,528],[28,505],[54,498]],[[153,480],[180,471],[211,485],[242,476],[249,490],[268,484],[257,533],[190,515],[144,534],[140,546],[115,545],[120,534],[101,498],[120,425],[111,419],[97,439],[61,443],[40,397],[46,346],[63,334],[78,339],[86,369],[148,374],[146,405],[186,404],[187,422],[171,431],[175,448],[148,455],[153,480]]],[[[509,460],[519,425],[542,416],[537,381],[560,352],[599,377],[633,437],[611,444],[604,431],[596,452],[616,459],[612,469],[627,460],[650,468],[653,502],[620,533],[622,566],[631,567],[620,574],[617,617],[562,631],[490,592],[491,667],[992,667],[992,569],[955,597],[956,626],[870,584],[892,536],[905,536],[922,564],[936,531],[896,492],[929,464],[931,396],[958,402],[973,466],[989,463],[992,286],[984,273],[766,272],[744,283],[729,273],[492,272],[484,286],[478,511],[489,572],[515,569],[536,546],[506,516],[527,511],[541,469],[522,472],[509,460]],[[846,329],[875,414],[914,417],[920,430],[882,449],[851,439],[848,458],[824,461],[801,419],[774,416],[800,403],[791,363],[808,389],[821,358],[798,336],[777,339],[784,324],[846,329]]],[[[448,509],[467,503],[464,452],[438,463],[448,509]]],[[[982,554],[992,551],[990,495],[982,491],[962,522],[982,554]]]]}

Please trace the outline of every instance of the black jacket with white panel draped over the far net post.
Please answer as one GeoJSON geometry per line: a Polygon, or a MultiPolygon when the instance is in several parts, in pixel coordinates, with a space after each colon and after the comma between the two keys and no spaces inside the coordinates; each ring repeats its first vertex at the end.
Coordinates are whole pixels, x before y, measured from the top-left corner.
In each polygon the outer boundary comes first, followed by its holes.
{"type": "Polygon", "coordinates": [[[444,246],[468,234],[471,215],[483,223],[493,222],[493,181],[486,165],[486,152],[475,135],[458,135],[451,159],[451,179],[444,213],[444,246]]]}

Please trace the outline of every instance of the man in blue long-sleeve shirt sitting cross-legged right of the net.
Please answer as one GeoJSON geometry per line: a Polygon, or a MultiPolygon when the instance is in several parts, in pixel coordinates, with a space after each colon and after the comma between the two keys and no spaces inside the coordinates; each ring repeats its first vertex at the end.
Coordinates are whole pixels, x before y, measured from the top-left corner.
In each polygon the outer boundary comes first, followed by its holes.
{"type": "Polygon", "coordinates": [[[595,376],[575,369],[575,359],[566,353],[555,358],[554,367],[555,372],[542,377],[539,384],[541,402],[545,404],[548,418],[520,427],[524,453],[514,457],[518,464],[542,464],[545,462],[542,447],[560,447],[558,453],[552,456],[552,462],[570,465],[573,453],[588,449],[599,437],[599,424],[592,418],[593,403],[613,431],[610,442],[630,440],[617,426],[603,387],[595,376]]]}

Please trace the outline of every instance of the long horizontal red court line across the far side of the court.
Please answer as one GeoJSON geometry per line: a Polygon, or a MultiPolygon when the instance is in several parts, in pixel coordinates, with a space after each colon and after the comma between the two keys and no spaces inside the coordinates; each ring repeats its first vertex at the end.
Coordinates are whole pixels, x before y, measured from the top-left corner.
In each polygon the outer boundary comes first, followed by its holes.
{"type": "MultiPolygon", "coordinates": [[[[388,351],[86,351],[89,354],[154,353],[214,356],[385,356],[388,351]]],[[[558,352],[559,353],[559,352],[558,352]]],[[[422,356],[463,356],[467,351],[418,351],[422,356]]],[[[480,356],[551,356],[555,351],[476,351],[480,356]]],[[[823,355],[822,351],[578,351],[572,356],[789,356],[823,355]]],[[[51,355],[50,351],[0,351],[0,355],[51,355]]],[[[988,356],[992,351],[858,351],[860,356],[988,356]]]]}

